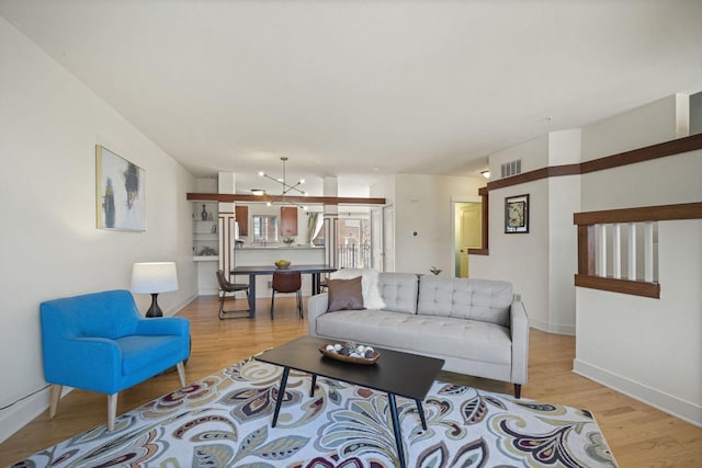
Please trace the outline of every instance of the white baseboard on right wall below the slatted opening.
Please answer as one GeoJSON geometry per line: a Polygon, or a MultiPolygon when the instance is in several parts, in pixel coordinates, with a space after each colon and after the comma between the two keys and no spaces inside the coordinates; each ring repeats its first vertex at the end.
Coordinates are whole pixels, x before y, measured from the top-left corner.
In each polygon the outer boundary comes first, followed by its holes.
{"type": "Polygon", "coordinates": [[[582,361],[573,361],[573,372],[690,424],[702,427],[702,407],[582,361]]]}

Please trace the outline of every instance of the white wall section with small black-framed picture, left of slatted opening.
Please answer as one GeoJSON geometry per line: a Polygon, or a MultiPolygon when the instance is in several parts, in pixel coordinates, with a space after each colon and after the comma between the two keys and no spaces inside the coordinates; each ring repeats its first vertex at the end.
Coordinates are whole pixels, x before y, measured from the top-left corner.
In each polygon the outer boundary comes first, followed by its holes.
{"type": "MultiPolygon", "coordinates": [[[[522,159],[522,172],[578,162],[580,130],[552,132],[490,155],[499,179],[503,162],[522,159]]],[[[495,180],[495,178],[491,178],[495,180]]],[[[580,176],[543,179],[489,192],[489,255],[471,255],[471,276],[503,279],[521,295],[532,327],[575,333],[577,231],[580,176]],[[529,194],[529,233],[505,233],[505,198],[529,194]]]]}

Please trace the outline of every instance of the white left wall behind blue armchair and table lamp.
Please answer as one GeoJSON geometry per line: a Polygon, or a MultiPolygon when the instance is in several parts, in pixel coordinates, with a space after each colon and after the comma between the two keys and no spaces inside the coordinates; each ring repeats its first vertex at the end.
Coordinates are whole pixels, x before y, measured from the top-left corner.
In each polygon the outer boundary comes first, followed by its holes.
{"type": "MultiPolygon", "coordinates": [[[[134,262],[176,261],[173,313],[195,295],[194,178],[0,16],[0,441],[48,406],[42,300],[128,288],[134,262]],[[147,231],[95,228],[95,144],[146,171],[147,231]],[[38,391],[16,404],[13,402],[38,391]]],[[[137,295],[144,311],[150,297],[137,295]]]]}

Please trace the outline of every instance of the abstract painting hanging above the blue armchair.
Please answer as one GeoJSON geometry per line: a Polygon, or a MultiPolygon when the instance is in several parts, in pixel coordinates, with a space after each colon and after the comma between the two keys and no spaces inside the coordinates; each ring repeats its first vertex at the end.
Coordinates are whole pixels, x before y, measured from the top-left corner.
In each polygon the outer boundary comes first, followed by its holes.
{"type": "Polygon", "coordinates": [[[95,145],[99,229],[146,230],[144,169],[95,145]]]}

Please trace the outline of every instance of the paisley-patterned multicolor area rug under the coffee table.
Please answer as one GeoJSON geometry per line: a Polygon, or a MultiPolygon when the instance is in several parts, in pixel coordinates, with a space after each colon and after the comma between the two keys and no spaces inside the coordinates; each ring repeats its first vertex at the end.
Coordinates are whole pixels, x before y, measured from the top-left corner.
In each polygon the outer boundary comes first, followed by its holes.
{"type": "MultiPolygon", "coordinates": [[[[394,468],[387,396],[291,372],[271,427],[282,368],[246,359],[15,467],[394,468]]],[[[586,410],[435,381],[421,429],[397,398],[408,467],[615,467],[586,410]]]]}

